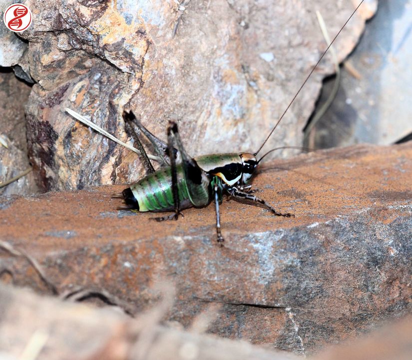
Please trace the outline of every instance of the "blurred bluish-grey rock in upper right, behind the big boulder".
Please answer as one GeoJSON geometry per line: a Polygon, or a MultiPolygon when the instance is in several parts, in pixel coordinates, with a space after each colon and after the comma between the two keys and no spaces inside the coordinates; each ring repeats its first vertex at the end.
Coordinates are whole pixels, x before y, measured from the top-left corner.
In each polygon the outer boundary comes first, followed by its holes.
{"type": "MultiPolygon", "coordinates": [[[[412,87],[404,85],[412,82],[412,72],[404,70],[410,65],[411,44],[393,40],[407,31],[411,17],[403,2],[380,4],[356,49],[344,62],[333,103],[316,125],[305,128],[305,146],[389,145],[410,134],[412,138],[411,107],[405,101],[412,97],[412,87]],[[394,54],[392,61],[386,61],[387,54],[394,54]]],[[[332,76],[324,81],[315,112],[333,93],[335,80],[332,76]]]]}

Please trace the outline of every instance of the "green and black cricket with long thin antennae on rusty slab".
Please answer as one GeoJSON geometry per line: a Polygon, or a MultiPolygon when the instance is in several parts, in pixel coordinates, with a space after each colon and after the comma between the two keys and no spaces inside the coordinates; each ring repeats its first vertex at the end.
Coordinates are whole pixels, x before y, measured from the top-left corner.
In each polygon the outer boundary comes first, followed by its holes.
{"type": "Polygon", "coordinates": [[[295,101],[296,97],[305,86],[306,82],[319,65],[331,45],[334,43],[340,32],[346,26],[351,17],[361,6],[362,0],[351,16],[330,42],[323,52],[318,62],[298,89],[285,111],[277,120],[268,136],[255,152],[233,152],[224,154],[210,154],[191,157],[183,145],[179,135],[177,123],[169,121],[167,126],[167,143],[154,136],[147,130],[132,111],[124,111],[123,119],[125,131],[134,140],[136,146],[132,147],[115,138],[101,127],[97,126],[79,113],[66,108],[65,111],[94,130],[107,136],[109,139],[136,152],[142,158],[146,170],[146,176],[138,182],[130,185],[121,194],[113,197],[123,199],[127,209],[134,212],[172,212],[171,215],[153,218],[156,221],[177,220],[182,215],[182,210],[195,207],[206,207],[212,202],[216,209],[216,240],[223,246],[219,205],[224,196],[229,196],[239,201],[246,201],[251,205],[259,205],[268,209],[274,216],[294,217],[292,213],[282,213],[272,207],[267,201],[254,195],[250,181],[253,178],[258,165],[271,152],[284,148],[303,149],[302,147],[287,146],[269,150],[258,159],[263,146],[271,137],[276,127],[282,121],[284,115],[295,101]],[[157,155],[147,154],[139,139],[143,134],[153,145],[157,155]],[[160,168],[155,170],[151,160],[160,164],[160,168]]]}

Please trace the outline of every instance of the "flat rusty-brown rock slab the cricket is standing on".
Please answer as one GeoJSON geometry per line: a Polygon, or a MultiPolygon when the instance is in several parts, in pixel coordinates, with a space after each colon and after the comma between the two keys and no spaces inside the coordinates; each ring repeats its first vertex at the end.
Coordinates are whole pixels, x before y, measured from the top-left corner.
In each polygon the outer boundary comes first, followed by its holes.
{"type": "MultiPolygon", "coordinates": [[[[166,278],[177,288],[167,319],[188,326],[219,303],[210,332],[312,352],[411,312],[411,161],[407,143],[267,163],[258,195],[296,217],[224,201],[223,248],[213,206],[156,223],[115,210],[110,195],[124,186],[3,198],[0,234],[60,292],[106,289],[140,311],[166,278]]],[[[8,281],[47,291],[23,258],[5,254],[0,264],[8,281]]]]}

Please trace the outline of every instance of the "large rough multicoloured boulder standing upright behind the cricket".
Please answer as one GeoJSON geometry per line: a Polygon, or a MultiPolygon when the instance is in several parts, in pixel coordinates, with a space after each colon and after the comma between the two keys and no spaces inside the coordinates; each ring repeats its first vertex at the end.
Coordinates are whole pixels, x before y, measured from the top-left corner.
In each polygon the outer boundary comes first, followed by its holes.
{"type": "MultiPolygon", "coordinates": [[[[342,60],[371,15],[366,1],[342,32],[342,60]]],[[[131,182],[139,160],[64,113],[73,108],[126,139],[131,108],[156,135],[178,119],[192,155],[256,149],[325,49],[313,1],[26,1],[30,159],[43,191],[131,182]],[[177,27],[176,27],[177,26],[177,27]],[[176,29],[176,31],[175,31],[176,29]],[[175,36],[173,34],[175,33],[175,36]]],[[[331,34],[354,1],[318,1],[331,34]]],[[[296,145],[327,59],[268,146],[296,145]]]]}

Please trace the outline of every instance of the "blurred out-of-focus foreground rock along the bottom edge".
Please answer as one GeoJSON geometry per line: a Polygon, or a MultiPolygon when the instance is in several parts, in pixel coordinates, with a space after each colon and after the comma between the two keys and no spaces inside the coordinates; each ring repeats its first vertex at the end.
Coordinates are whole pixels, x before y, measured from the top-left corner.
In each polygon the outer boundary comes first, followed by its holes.
{"type": "MultiPolygon", "coordinates": [[[[61,303],[0,286],[2,359],[72,360],[293,360],[245,342],[160,326],[164,306],[130,320],[111,309],[61,303]]],[[[206,314],[203,314],[206,316],[206,314]]],[[[209,314],[211,315],[211,314],[209,314]]],[[[199,318],[200,320],[200,318],[199,318]]],[[[312,360],[410,360],[411,317],[312,360]]]]}

